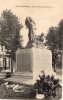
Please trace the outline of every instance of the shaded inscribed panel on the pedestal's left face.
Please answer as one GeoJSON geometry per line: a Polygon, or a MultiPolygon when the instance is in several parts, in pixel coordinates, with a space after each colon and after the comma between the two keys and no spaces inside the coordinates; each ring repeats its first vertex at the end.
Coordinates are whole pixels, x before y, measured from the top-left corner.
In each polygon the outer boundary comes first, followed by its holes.
{"type": "Polygon", "coordinates": [[[19,71],[31,71],[32,59],[30,53],[22,53],[17,55],[17,70],[19,71]]]}

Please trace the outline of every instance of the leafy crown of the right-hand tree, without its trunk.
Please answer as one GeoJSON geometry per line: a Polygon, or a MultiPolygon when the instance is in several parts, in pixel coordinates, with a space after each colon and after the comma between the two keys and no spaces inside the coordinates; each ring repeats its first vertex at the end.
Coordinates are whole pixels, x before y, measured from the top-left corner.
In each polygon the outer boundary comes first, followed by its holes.
{"type": "Polygon", "coordinates": [[[49,49],[55,51],[62,50],[62,36],[63,36],[63,19],[59,22],[57,27],[50,27],[46,35],[46,44],[49,49]]]}

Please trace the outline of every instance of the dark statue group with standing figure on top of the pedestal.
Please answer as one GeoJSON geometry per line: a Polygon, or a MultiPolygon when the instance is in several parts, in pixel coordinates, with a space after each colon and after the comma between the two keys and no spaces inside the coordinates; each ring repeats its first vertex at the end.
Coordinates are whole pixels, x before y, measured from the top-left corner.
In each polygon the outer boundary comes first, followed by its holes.
{"type": "Polygon", "coordinates": [[[44,48],[44,43],[43,43],[43,36],[44,34],[42,33],[40,35],[40,39],[38,40],[38,36],[35,35],[35,22],[32,20],[31,17],[26,17],[26,20],[25,20],[25,25],[26,25],[26,28],[28,29],[28,38],[29,38],[29,41],[26,45],[27,48],[30,48],[30,47],[37,47],[37,48],[44,48]]]}

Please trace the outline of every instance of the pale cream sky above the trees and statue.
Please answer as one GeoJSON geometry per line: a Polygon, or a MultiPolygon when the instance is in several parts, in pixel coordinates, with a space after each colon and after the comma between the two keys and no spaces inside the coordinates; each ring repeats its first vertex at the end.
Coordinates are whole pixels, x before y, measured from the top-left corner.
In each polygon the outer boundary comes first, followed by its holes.
{"type": "Polygon", "coordinates": [[[20,18],[20,22],[24,26],[21,30],[24,45],[28,41],[28,30],[25,26],[27,16],[36,23],[37,30],[35,33],[37,35],[42,32],[46,35],[49,27],[57,26],[63,19],[63,0],[0,0],[0,14],[5,9],[11,9],[13,14],[20,18]]]}

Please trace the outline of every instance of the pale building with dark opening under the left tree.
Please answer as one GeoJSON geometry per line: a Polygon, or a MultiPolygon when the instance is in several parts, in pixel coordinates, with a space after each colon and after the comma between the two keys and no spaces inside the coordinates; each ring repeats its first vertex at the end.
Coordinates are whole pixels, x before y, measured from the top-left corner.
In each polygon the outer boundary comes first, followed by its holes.
{"type": "Polygon", "coordinates": [[[6,54],[5,46],[0,45],[0,71],[11,69],[11,58],[9,54],[6,54]]]}

